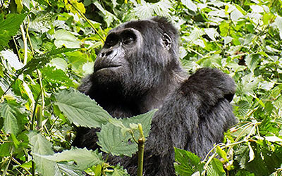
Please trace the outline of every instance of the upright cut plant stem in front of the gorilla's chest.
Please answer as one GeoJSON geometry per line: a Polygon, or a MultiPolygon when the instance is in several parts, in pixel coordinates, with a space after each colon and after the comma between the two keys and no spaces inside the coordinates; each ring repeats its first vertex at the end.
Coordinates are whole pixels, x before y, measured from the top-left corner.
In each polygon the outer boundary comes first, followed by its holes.
{"type": "Polygon", "coordinates": [[[138,139],[138,168],[137,176],[143,175],[143,161],[144,161],[144,147],[145,147],[145,137],[142,130],[142,125],[138,123],[138,129],[140,132],[140,138],[138,139]]]}

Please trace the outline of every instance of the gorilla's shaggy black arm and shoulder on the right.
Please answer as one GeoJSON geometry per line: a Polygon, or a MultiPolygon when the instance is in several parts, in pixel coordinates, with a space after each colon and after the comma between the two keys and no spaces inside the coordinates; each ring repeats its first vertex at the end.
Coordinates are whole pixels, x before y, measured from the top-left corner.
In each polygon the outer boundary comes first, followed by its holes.
{"type": "MultiPolygon", "coordinates": [[[[234,92],[231,77],[202,68],[168,96],[153,118],[145,146],[148,160],[159,157],[157,175],[173,173],[173,146],[204,157],[214,142],[221,142],[223,133],[236,122],[229,103],[234,92]]],[[[145,168],[145,175],[156,165],[145,168]]]]}

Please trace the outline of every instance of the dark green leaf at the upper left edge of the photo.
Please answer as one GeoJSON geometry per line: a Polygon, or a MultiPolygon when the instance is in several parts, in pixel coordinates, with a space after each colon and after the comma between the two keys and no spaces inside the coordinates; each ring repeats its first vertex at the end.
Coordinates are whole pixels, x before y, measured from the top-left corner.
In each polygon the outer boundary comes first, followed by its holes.
{"type": "Polygon", "coordinates": [[[4,14],[0,14],[0,49],[3,49],[3,46],[8,46],[8,42],[18,32],[20,24],[23,23],[26,15],[10,13],[4,19],[4,14]]]}

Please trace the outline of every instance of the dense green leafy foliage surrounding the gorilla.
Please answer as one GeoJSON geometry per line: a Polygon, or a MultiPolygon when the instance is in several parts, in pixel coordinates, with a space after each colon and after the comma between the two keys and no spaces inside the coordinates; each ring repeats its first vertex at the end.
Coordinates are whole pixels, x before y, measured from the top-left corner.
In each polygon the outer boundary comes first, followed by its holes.
{"type": "Polygon", "coordinates": [[[219,68],[237,84],[240,123],[204,160],[176,149],[176,173],[282,175],[281,0],[0,0],[2,175],[126,175],[98,151],[71,149],[72,124],[102,127],[102,150],[131,156],[128,139],[142,133],[137,124],[147,136],[154,112],[116,120],[72,87],[92,72],[112,27],[152,15],[180,30],[189,73],[219,68]]]}

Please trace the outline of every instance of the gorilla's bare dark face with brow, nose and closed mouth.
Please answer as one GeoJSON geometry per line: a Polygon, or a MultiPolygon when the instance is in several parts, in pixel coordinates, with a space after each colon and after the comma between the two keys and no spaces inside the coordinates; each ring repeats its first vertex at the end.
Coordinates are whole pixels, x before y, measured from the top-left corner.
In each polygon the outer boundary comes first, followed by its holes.
{"type": "Polygon", "coordinates": [[[106,37],[102,51],[98,54],[94,64],[94,75],[103,82],[128,80],[133,75],[130,69],[131,58],[142,45],[139,31],[126,28],[112,31],[106,37]],[[107,77],[102,79],[102,77],[107,77]]]}

